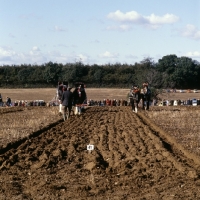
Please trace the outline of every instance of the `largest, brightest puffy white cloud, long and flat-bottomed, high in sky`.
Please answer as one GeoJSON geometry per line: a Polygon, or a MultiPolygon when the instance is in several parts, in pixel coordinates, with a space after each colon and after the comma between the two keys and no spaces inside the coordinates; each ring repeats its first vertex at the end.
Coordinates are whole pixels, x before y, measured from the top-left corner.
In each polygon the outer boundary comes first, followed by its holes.
{"type": "Polygon", "coordinates": [[[154,13],[149,16],[143,16],[136,11],[123,13],[120,10],[109,13],[107,18],[120,23],[140,24],[151,28],[158,28],[164,24],[173,24],[179,20],[176,15],[168,13],[163,16],[157,16],[154,13]]]}

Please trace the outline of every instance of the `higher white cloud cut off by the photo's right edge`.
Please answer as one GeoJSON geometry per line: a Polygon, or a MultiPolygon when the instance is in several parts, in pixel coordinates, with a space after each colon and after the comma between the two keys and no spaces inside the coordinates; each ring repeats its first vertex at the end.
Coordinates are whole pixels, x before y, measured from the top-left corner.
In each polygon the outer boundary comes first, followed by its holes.
{"type": "Polygon", "coordinates": [[[186,27],[182,30],[182,36],[189,37],[195,40],[200,39],[200,30],[198,30],[194,25],[187,24],[186,27]]]}

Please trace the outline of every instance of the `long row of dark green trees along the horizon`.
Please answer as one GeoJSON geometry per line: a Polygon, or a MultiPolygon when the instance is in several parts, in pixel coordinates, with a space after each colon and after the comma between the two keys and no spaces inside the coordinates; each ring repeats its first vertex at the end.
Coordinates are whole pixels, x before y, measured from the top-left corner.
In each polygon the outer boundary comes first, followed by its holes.
{"type": "Polygon", "coordinates": [[[188,57],[167,55],[154,62],[144,58],[135,64],[87,65],[82,62],[0,67],[1,88],[56,87],[58,81],[84,82],[87,87],[130,88],[148,81],[152,88],[199,88],[200,63],[188,57]]]}

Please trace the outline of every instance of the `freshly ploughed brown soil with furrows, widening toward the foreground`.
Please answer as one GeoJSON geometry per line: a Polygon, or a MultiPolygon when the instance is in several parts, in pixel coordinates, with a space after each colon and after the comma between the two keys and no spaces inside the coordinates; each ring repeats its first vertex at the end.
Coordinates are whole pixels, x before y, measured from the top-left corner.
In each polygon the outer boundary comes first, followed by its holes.
{"type": "Polygon", "coordinates": [[[194,200],[199,166],[142,112],[92,107],[1,154],[0,199],[194,200]]]}

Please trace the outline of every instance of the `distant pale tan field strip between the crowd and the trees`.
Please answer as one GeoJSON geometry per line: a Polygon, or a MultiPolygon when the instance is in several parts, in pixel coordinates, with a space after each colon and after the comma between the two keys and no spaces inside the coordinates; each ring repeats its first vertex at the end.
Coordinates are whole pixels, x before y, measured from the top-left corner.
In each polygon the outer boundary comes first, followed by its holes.
{"type": "MultiPolygon", "coordinates": [[[[73,89],[72,89],[73,91],[73,89]]],[[[88,99],[103,100],[103,99],[126,99],[130,89],[113,89],[113,88],[86,88],[88,99]]],[[[0,94],[3,100],[9,96],[13,101],[15,100],[44,100],[51,101],[56,96],[56,88],[38,88],[38,89],[0,89],[0,94]]],[[[188,98],[200,99],[200,92],[198,93],[163,93],[160,95],[161,99],[180,99],[186,100],[188,98]]]]}

